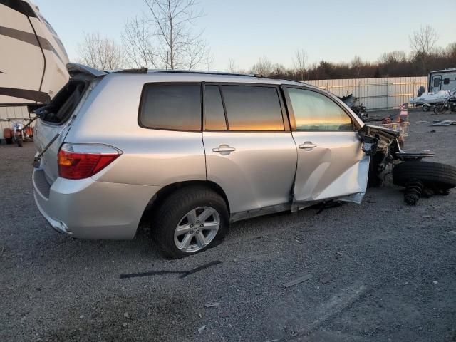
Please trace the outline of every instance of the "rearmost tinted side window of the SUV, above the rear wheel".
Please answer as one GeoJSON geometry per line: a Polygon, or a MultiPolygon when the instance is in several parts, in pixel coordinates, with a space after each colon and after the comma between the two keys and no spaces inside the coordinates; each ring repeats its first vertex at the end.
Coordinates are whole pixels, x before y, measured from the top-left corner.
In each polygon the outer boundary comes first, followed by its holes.
{"type": "Polygon", "coordinates": [[[140,124],[166,130],[201,130],[201,86],[153,83],[145,85],[140,124]]]}

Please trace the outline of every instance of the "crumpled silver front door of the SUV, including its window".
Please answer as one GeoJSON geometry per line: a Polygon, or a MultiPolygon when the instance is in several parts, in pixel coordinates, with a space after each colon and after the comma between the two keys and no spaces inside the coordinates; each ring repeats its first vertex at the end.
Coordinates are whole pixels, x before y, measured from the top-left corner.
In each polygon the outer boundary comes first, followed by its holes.
{"type": "Polygon", "coordinates": [[[343,198],[361,202],[369,157],[350,115],[328,95],[285,87],[291,130],[298,147],[294,203],[343,198]]]}

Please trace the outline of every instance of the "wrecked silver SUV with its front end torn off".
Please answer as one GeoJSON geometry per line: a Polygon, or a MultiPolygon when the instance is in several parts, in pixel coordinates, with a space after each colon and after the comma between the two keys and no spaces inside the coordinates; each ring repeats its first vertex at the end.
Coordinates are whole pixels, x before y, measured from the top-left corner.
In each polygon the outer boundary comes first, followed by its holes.
{"type": "MultiPolygon", "coordinates": [[[[161,252],[185,257],[221,242],[230,222],[330,199],[359,203],[366,191],[378,130],[366,142],[367,126],[314,86],[68,71],[34,132],[34,197],[58,232],[133,239],[147,212],[161,252]]],[[[394,135],[382,137],[388,145],[394,135]]]]}

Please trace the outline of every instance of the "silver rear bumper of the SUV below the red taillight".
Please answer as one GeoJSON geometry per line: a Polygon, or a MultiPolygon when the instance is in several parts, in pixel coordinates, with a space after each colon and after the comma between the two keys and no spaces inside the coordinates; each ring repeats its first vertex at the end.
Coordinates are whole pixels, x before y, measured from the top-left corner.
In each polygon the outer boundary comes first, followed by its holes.
{"type": "Polygon", "coordinates": [[[57,178],[33,170],[33,195],[58,232],[83,239],[133,239],[142,213],[160,187],[57,178]]]}

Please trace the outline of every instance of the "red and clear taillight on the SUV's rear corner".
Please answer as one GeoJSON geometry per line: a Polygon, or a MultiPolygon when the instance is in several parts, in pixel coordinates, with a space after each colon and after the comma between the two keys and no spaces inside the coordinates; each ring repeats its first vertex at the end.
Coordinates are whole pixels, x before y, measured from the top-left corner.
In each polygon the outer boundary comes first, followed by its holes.
{"type": "Polygon", "coordinates": [[[100,144],[63,144],[58,151],[58,175],[81,180],[95,175],[113,162],[122,152],[100,144]]]}

